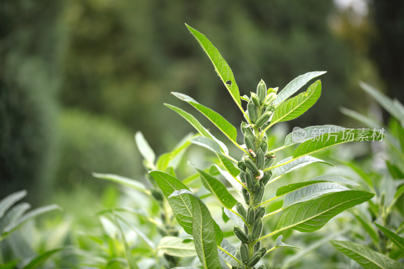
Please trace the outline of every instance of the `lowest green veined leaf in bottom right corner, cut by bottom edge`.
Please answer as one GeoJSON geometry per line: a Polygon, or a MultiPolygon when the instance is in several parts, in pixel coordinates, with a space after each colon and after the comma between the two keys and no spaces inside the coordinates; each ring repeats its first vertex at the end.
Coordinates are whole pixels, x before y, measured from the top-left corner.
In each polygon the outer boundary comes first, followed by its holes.
{"type": "Polygon", "coordinates": [[[331,244],[349,258],[369,269],[402,269],[404,265],[398,261],[374,251],[358,243],[330,240],[331,244]]]}

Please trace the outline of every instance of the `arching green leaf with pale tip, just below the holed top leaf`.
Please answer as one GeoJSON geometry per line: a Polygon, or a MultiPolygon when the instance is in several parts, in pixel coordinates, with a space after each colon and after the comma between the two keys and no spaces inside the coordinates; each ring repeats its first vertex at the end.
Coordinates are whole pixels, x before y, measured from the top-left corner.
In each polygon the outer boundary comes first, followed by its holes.
{"type": "Polygon", "coordinates": [[[237,143],[237,130],[236,128],[231,125],[222,115],[219,113],[211,110],[209,107],[202,105],[195,101],[190,96],[179,93],[179,92],[172,92],[172,94],[180,100],[183,100],[198,110],[200,113],[204,114],[220,131],[222,131],[230,140],[237,143]]]}

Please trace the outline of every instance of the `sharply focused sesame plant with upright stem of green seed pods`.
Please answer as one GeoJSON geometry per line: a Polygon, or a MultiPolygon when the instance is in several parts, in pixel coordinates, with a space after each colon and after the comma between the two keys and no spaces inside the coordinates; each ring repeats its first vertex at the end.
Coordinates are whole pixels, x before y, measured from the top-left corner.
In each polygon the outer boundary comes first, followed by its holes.
{"type": "Polygon", "coordinates": [[[200,136],[192,138],[190,142],[210,149],[219,159],[221,165],[215,166],[214,169],[195,169],[203,186],[217,198],[226,216],[234,221],[233,234],[239,244],[233,246],[224,239],[224,232],[228,231],[222,231],[212,218],[203,197],[191,192],[187,185],[172,173],[154,170],[149,174],[167,198],[173,216],[184,231],[192,235],[197,256],[204,268],[228,266],[234,269],[263,269],[266,268],[263,263],[265,255],[279,247],[293,247],[282,242],[282,232],[289,229],[305,233],[315,232],[338,213],[374,196],[368,191],[346,187],[352,182],[337,175],[320,175],[310,181],[282,186],[276,190],[274,197],[264,200],[266,189],[272,188],[273,183],[288,172],[311,163],[326,163],[311,156],[313,153],[347,142],[381,140],[383,135],[376,131],[352,130],[347,136],[339,126],[311,126],[302,129],[307,136],[296,139],[297,133],[293,132],[285,138],[283,146],[268,148],[267,132],[270,132],[275,124],[293,120],[310,109],[320,97],[321,81],[317,80],[305,92],[291,96],[310,80],[325,72],[301,75],[281,91],[278,91],[278,88],[268,88],[261,80],[256,92],[240,97],[234,75],[217,48],[205,35],[188,25],[187,28],[212,61],[237,109],[242,112],[244,119],[241,119],[241,132],[237,133],[237,129],[224,117],[192,97],[177,92],[173,92],[173,95],[207,117],[241,154],[231,156],[225,142],[217,139],[194,116],[179,107],[170,104],[166,106],[199,132],[200,136]],[[246,110],[242,101],[246,103],[246,110]],[[326,132],[314,132],[319,127],[326,132]],[[237,141],[238,135],[239,138],[242,136],[243,144],[237,141]],[[293,154],[275,162],[276,154],[286,147],[295,147],[293,154]],[[223,175],[228,182],[218,180],[215,177],[218,174],[223,175]],[[231,186],[232,189],[226,186],[231,186]],[[274,200],[282,198],[282,207],[267,212],[266,208],[274,200]],[[276,213],[281,213],[281,216],[278,218],[276,213]],[[275,216],[278,219],[276,229],[264,234],[263,227],[266,222],[275,216]],[[278,237],[276,240],[267,240],[273,236],[278,237]]]}

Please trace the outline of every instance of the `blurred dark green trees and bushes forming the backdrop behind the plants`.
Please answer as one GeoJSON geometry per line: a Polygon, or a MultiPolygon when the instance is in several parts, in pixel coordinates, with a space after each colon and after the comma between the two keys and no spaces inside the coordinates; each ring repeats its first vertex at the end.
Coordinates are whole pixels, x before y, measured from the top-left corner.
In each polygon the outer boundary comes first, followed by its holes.
{"type": "Polygon", "coordinates": [[[260,79],[282,89],[315,70],[323,93],[289,123],[351,125],[363,80],[404,100],[402,1],[2,0],[0,198],[28,188],[43,203],[103,184],[91,172],[139,178],[133,135],[157,154],[191,127],[163,102],[186,93],[238,125],[241,114],[184,23],[203,32],[241,95],[260,79]]]}

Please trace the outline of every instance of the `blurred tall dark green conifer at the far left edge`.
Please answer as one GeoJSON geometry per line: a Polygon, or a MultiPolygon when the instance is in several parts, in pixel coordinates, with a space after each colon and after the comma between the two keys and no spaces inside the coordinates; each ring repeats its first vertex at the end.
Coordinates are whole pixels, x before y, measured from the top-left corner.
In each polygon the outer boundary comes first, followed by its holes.
{"type": "Polygon", "coordinates": [[[0,197],[52,174],[61,8],[56,0],[0,4],[0,197]]]}

